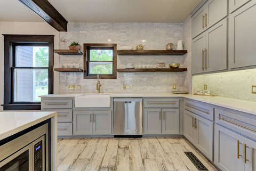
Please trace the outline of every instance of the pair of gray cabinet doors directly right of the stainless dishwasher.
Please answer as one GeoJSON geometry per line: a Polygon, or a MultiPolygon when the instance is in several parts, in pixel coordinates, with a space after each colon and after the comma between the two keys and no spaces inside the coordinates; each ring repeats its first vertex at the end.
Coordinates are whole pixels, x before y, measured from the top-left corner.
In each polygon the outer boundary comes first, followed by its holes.
{"type": "Polygon", "coordinates": [[[179,109],[144,109],[144,134],[179,134],[179,109]]]}

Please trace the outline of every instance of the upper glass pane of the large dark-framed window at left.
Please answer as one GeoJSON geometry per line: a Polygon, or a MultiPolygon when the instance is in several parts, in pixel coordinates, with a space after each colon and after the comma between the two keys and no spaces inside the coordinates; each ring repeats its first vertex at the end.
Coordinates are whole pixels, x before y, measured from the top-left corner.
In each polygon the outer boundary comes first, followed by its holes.
{"type": "Polygon", "coordinates": [[[15,67],[48,67],[48,46],[16,46],[15,67]]]}

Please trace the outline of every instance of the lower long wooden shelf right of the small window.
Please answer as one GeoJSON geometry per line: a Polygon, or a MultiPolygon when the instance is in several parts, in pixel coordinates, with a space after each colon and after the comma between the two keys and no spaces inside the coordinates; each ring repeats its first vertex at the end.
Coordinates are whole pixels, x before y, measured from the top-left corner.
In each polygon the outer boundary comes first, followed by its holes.
{"type": "Polygon", "coordinates": [[[187,71],[187,68],[117,69],[117,72],[183,72],[183,71],[187,71]]]}

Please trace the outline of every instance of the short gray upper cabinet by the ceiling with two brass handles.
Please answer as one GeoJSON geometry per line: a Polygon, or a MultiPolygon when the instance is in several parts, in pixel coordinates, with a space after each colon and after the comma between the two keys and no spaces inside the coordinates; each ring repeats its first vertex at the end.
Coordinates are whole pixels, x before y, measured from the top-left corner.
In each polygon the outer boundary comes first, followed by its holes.
{"type": "Polygon", "coordinates": [[[192,38],[227,16],[227,0],[209,0],[192,16],[192,38]]]}

